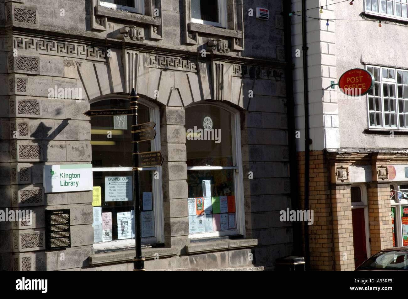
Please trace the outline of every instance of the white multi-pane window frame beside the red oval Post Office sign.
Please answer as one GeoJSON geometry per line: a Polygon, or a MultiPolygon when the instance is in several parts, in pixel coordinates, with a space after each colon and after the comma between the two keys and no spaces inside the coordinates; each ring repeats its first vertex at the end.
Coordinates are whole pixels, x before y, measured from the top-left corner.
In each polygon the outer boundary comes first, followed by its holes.
{"type": "MultiPolygon", "coordinates": [[[[369,107],[369,97],[370,97],[370,95],[369,94],[367,94],[366,95],[366,103],[367,103],[367,126],[368,126],[368,128],[369,129],[385,129],[385,130],[398,130],[398,131],[408,131],[408,122],[407,122],[407,127],[406,128],[404,128],[404,127],[400,127],[400,124],[399,124],[399,115],[400,115],[400,112],[399,112],[399,101],[398,101],[398,83],[397,83],[397,71],[402,71],[402,72],[408,72],[408,70],[404,70],[404,69],[401,69],[401,68],[392,68],[392,67],[386,67],[386,66],[374,66],[374,65],[366,65],[366,69],[367,68],[369,68],[369,67],[371,67],[371,68],[379,68],[379,72],[380,72],[380,74],[379,74],[379,76],[380,76],[380,78],[379,78],[379,83],[380,83],[380,88],[379,88],[379,91],[380,91],[380,95],[381,95],[381,110],[380,110],[380,112],[381,112],[381,117],[382,117],[382,119],[381,119],[381,121],[382,121],[382,126],[373,126],[373,125],[370,125],[370,107],[369,107]],[[383,69],[392,69],[392,70],[394,70],[394,79],[383,79],[382,78],[382,71],[383,71],[383,69]],[[393,84],[394,86],[395,86],[395,109],[396,109],[396,114],[397,114],[397,120],[396,120],[396,126],[395,127],[391,127],[391,126],[386,126],[385,125],[385,112],[384,112],[384,95],[383,95],[383,83],[384,84],[393,84]]],[[[373,74],[374,75],[374,74],[373,74]]],[[[373,87],[373,89],[375,88],[375,86],[373,87]]],[[[403,102],[404,102],[405,100],[403,100],[403,102]]],[[[374,99],[374,102],[375,102],[375,99],[374,99]]],[[[404,104],[403,104],[404,105],[404,104]]],[[[378,113],[378,112],[377,112],[378,113]]],[[[387,112],[388,113],[388,112],[387,112]]],[[[406,111],[405,113],[403,113],[403,115],[405,116],[405,114],[408,114],[408,111],[406,111]]],[[[391,123],[391,120],[390,120],[390,123],[391,123]]]]}

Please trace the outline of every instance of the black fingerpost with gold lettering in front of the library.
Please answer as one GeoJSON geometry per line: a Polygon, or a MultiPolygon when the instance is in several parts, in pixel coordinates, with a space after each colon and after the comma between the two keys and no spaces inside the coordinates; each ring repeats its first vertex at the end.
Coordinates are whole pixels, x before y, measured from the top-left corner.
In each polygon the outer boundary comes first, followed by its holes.
{"type": "Polygon", "coordinates": [[[161,166],[163,163],[162,152],[143,152],[139,153],[139,142],[153,140],[156,132],[153,129],[155,123],[137,124],[137,98],[135,89],[129,95],[130,108],[129,109],[114,109],[114,110],[89,110],[84,114],[89,117],[97,116],[115,116],[115,115],[131,115],[132,117],[132,162],[133,162],[133,204],[135,206],[135,245],[136,256],[133,258],[133,271],[145,270],[144,257],[142,256],[142,223],[140,215],[140,198],[139,198],[139,168],[140,167],[154,167],[161,166]]]}

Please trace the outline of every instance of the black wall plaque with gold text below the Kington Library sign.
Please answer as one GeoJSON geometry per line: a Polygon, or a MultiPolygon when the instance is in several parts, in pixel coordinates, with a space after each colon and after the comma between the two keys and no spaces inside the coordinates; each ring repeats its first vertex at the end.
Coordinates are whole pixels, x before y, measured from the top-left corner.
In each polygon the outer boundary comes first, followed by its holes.
{"type": "Polygon", "coordinates": [[[69,209],[45,210],[45,235],[47,250],[71,247],[69,209]]]}

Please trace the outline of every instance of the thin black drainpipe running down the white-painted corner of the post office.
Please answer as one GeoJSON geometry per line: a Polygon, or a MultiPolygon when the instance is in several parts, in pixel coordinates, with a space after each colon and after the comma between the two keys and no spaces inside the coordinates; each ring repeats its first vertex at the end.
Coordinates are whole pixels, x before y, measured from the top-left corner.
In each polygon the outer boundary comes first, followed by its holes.
{"type": "MultiPolygon", "coordinates": [[[[305,106],[305,210],[309,210],[309,164],[310,164],[310,143],[309,138],[309,89],[307,72],[307,40],[306,40],[306,0],[302,0],[302,35],[303,35],[303,92],[305,106]]],[[[309,227],[304,222],[305,231],[305,262],[306,270],[310,270],[310,249],[309,249],[309,227]]]]}

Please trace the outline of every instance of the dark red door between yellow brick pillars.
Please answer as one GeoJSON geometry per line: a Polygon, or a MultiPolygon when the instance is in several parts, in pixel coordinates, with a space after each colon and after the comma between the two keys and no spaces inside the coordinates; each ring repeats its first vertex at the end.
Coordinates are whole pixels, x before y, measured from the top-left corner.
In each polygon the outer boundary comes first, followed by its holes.
{"type": "Polygon", "coordinates": [[[353,219],[354,264],[357,268],[367,259],[364,208],[352,209],[351,216],[353,219]]]}

